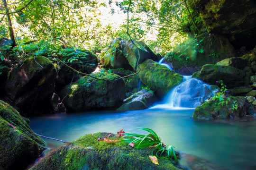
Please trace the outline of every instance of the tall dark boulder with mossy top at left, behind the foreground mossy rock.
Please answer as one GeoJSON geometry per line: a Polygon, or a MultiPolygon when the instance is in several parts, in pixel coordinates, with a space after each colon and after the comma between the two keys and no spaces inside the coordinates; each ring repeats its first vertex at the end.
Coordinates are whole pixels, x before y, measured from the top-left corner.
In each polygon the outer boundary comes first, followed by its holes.
{"type": "Polygon", "coordinates": [[[43,56],[25,59],[23,64],[13,68],[6,81],[5,89],[10,100],[27,116],[35,105],[44,105],[55,89],[57,71],[54,64],[43,56]]]}

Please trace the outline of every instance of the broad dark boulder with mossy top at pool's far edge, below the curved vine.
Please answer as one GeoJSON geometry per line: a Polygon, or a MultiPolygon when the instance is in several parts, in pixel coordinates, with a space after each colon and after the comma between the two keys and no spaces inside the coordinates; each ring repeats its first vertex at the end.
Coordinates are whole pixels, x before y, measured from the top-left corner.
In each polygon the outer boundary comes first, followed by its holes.
{"type": "MultiPolygon", "coordinates": [[[[92,76],[104,79],[118,79],[120,76],[108,72],[99,72],[92,76]]],[[[98,80],[84,76],[72,85],[67,85],[61,92],[64,105],[70,111],[86,111],[91,109],[117,109],[125,99],[125,83],[98,80]]]]}

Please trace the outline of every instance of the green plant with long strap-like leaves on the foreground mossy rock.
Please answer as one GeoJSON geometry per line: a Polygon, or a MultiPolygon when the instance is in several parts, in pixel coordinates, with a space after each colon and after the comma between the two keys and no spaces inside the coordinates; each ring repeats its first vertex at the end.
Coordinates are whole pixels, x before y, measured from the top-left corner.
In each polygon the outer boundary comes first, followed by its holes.
{"type": "Polygon", "coordinates": [[[177,160],[175,151],[174,151],[174,146],[172,145],[165,145],[159,136],[150,128],[136,128],[140,130],[145,130],[149,132],[149,134],[146,135],[139,135],[135,133],[124,133],[124,139],[123,142],[129,143],[129,145],[133,145],[135,148],[147,148],[147,147],[155,147],[155,149],[152,152],[152,155],[164,159],[168,158],[171,159],[172,155],[174,156],[175,160],[177,160]],[[156,152],[154,152],[156,151],[156,152]],[[163,155],[163,153],[166,153],[167,155],[163,155]]]}

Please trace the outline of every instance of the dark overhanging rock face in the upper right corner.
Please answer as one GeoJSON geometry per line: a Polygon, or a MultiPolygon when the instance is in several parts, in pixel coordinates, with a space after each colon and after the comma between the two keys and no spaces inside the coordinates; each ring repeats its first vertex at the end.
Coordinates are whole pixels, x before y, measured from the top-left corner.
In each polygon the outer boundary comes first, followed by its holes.
{"type": "Polygon", "coordinates": [[[226,34],[240,49],[255,47],[256,4],[254,0],[188,0],[198,11],[209,33],[226,34]]]}

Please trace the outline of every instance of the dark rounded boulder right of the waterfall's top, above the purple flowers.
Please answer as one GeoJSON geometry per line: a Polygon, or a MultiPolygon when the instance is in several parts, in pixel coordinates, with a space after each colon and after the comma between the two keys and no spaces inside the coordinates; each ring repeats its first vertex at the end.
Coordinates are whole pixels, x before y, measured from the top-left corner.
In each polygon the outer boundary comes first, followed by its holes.
{"type": "Polygon", "coordinates": [[[200,72],[195,72],[193,78],[201,79],[210,85],[219,85],[217,81],[222,80],[227,88],[233,88],[247,84],[246,74],[243,70],[230,66],[219,66],[206,64],[200,72]]]}

